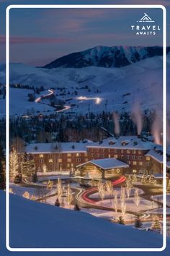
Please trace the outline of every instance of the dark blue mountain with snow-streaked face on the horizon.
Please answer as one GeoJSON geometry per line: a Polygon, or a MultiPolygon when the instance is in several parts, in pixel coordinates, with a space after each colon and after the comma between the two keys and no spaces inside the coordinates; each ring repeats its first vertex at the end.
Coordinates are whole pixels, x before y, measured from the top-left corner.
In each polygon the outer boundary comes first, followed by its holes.
{"type": "MultiPolygon", "coordinates": [[[[167,52],[170,47],[167,48],[167,52]]],[[[57,67],[125,67],[137,61],[161,56],[162,47],[96,46],[73,54],[68,54],[46,64],[44,68],[57,67]]]]}

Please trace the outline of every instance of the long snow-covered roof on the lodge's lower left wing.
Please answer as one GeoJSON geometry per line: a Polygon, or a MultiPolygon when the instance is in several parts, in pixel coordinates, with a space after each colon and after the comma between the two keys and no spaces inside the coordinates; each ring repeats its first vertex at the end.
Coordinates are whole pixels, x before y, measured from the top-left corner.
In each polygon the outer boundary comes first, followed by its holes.
{"type": "Polygon", "coordinates": [[[86,153],[87,143],[79,142],[57,142],[57,143],[33,143],[26,147],[27,153],[40,154],[40,153],[86,153]]]}

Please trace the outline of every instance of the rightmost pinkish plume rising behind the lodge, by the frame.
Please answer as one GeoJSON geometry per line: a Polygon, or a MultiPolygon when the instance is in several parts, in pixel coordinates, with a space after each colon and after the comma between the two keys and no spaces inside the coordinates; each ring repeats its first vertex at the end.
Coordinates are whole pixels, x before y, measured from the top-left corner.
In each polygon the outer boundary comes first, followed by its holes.
{"type": "Polygon", "coordinates": [[[161,117],[158,116],[158,114],[155,114],[151,132],[153,135],[154,142],[158,145],[161,145],[161,128],[162,128],[161,117]]]}

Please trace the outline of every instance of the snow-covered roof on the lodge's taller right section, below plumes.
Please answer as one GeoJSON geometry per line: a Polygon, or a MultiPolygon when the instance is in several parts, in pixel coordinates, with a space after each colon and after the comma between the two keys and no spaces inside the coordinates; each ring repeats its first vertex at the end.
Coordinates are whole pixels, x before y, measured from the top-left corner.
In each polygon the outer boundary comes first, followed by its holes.
{"type": "Polygon", "coordinates": [[[102,142],[94,142],[87,145],[87,148],[115,148],[115,149],[130,149],[130,150],[150,150],[155,145],[151,141],[141,140],[137,136],[121,136],[118,138],[109,137],[102,142]]]}

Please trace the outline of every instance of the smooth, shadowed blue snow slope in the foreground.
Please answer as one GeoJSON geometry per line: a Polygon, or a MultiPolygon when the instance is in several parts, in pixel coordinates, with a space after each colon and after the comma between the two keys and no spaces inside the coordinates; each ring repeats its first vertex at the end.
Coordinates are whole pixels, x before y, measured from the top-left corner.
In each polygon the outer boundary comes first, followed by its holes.
{"type": "MultiPolygon", "coordinates": [[[[0,192],[1,202],[4,192],[0,192]]],[[[2,210],[2,208],[1,208],[2,210]]],[[[87,213],[10,196],[11,247],[161,247],[162,237],[87,213]]],[[[4,256],[4,255],[3,255],[4,256]]]]}

